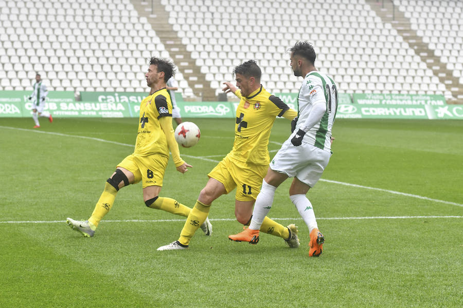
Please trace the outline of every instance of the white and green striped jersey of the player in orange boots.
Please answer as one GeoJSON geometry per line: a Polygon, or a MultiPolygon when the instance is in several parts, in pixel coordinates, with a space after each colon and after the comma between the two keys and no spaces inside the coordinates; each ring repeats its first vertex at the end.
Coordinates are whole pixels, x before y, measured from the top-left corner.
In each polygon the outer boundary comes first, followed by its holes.
{"type": "Polygon", "coordinates": [[[306,131],[302,142],[320,149],[331,150],[331,129],[337,110],[337,88],[330,76],[309,72],[299,90],[298,129],[306,131]]]}

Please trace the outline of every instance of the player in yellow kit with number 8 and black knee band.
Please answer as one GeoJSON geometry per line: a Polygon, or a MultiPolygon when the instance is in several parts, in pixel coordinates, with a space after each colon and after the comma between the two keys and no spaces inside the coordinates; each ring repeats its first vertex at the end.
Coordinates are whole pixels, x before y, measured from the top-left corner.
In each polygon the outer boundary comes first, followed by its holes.
{"type": "MultiPolygon", "coordinates": [[[[174,73],[174,64],[168,60],[152,57],[146,73],[146,83],[150,94],[140,105],[135,150],[117,165],[116,171],[106,181],[103,193],[98,200],[92,216],[87,221],[67,218],[67,224],[85,237],[95,234],[101,219],[113,206],[120,188],[141,181],[143,199],[146,206],[162,209],[175,215],[187,217],[191,208],[174,199],[159,197],[163,186],[164,172],[169,160],[169,150],[177,171],[188,171],[187,164],[180,158],[179,145],[175,142],[172,127],[172,103],[166,89],[166,82],[174,73]]],[[[212,226],[206,219],[201,223],[206,235],[212,232],[212,226]]]]}

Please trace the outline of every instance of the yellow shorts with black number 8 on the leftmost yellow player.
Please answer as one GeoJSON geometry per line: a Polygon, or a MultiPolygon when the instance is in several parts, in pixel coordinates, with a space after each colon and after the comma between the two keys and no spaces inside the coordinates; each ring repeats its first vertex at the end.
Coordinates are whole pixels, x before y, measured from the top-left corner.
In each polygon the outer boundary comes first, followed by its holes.
{"type": "Polygon", "coordinates": [[[143,188],[148,186],[163,186],[164,172],[169,158],[157,154],[149,156],[129,155],[117,166],[133,173],[134,184],[142,181],[143,188]]]}

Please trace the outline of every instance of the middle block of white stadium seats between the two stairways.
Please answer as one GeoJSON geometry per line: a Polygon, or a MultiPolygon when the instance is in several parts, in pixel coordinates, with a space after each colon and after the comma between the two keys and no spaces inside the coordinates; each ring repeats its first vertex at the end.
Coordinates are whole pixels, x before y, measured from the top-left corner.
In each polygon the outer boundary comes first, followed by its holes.
{"type": "Polygon", "coordinates": [[[263,68],[263,81],[274,82],[270,90],[294,91],[300,80],[292,75],[286,50],[298,40],[308,40],[318,54],[317,68],[333,75],[340,91],[444,94],[446,90],[397,31],[364,1],[319,1],[310,7],[285,0],[161,3],[170,12],[169,23],[211,82],[229,80],[236,63],[252,58],[263,68]],[[239,13],[226,7],[238,8],[239,13]],[[317,12],[315,18],[305,18],[312,11],[317,12]],[[213,59],[231,60],[219,67],[228,74],[215,72],[213,59]],[[409,86],[398,82],[419,73],[428,78],[413,80],[409,86]]]}

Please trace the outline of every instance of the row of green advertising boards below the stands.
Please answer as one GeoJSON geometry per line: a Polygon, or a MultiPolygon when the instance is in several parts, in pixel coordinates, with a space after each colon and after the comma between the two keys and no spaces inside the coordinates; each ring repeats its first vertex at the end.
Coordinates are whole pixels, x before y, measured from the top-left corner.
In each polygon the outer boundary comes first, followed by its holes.
{"type": "MultiPolygon", "coordinates": [[[[31,117],[30,91],[0,91],[1,117],[31,117]]],[[[275,93],[297,110],[296,93],[275,93]]],[[[55,118],[134,118],[146,93],[49,91],[45,110],[55,118]]],[[[463,119],[463,105],[447,105],[442,95],[354,93],[339,98],[336,118],[344,119],[463,119]]],[[[238,102],[185,102],[177,97],[183,118],[235,118],[238,102]]]]}

